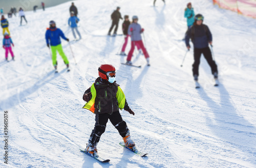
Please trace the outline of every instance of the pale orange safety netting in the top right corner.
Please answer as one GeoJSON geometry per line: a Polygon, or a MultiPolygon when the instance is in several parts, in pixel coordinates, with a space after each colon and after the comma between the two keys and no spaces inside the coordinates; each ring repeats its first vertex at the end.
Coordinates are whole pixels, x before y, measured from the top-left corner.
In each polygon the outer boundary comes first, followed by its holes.
{"type": "Polygon", "coordinates": [[[256,18],[256,0],[213,0],[220,8],[256,18]]]}

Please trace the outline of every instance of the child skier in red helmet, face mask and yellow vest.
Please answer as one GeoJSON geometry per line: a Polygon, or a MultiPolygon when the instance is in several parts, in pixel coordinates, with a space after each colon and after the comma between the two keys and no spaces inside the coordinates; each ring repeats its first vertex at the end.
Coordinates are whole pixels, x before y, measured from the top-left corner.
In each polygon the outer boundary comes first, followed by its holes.
{"type": "Polygon", "coordinates": [[[93,157],[98,157],[96,146],[101,134],[105,131],[108,120],[111,121],[122,136],[125,146],[137,151],[131,139],[130,131],[119,113],[120,108],[134,115],[133,110],[126,102],[123,91],[115,81],[116,69],[113,65],[104,64],[99,67],[98,73],[99,77],[91,88],[83,94],[83,100],[87,102],[83,108],[89,109],[96,115],[96,123],[85,151],[93,157]]]}

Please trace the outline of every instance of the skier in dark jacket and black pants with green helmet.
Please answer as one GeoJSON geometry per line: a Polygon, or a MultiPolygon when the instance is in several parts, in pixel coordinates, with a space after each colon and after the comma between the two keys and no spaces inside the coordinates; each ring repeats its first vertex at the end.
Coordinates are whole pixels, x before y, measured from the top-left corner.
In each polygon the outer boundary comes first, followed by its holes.
{"type": "Polygon", "coordinates": [[[195,22],[193,26],[190,27],[185,37],[185,43],[188,50],[190,49],[189,38],[191,38],[191,41],[194,45],[195,62],[193,64],[193,76],[196,81],[198,80],[199,76],[199,64],[202,53],[204,54],[204,58],[211,68],[211,73],[214,75],[214,78],[218,78],[217,65],[215,61],[212,60],[211,51],[208,45],[212,44],[212,35],[208,26],[203,24],[203,19],[203,15],[197,14],[195,16],[195,22]]]}

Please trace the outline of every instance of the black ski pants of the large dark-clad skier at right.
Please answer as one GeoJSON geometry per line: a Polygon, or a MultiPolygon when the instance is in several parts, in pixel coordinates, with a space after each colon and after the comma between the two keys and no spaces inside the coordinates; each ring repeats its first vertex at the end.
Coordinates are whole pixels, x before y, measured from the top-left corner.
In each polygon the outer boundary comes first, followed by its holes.
{"type": "Polygon", "coordinates": [[[214,60],[212,60],[212,55],[209,47],[206,48],[194,48],[194,64],[193,64],[193,76],[198,75],[199,76],[199,64],[200,64],[200,58],[201,54],[204,55],[204,58],[206,59],[207,63],[209,64],[211,68],[211,73],[214,74],[215,72],[218,73],[217,65],[214,60]]]}

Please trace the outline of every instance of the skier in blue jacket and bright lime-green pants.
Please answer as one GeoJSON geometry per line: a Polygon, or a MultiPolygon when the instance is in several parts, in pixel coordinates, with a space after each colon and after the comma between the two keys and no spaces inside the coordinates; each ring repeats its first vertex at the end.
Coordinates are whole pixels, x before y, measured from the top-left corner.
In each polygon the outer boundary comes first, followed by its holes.
{"type": "Polygon", "coordinates": [[[50,27],[46,31],[46,43],[49,48],[51,45],[52,64],[57,72],[57,51],[58,51],[64,63],[67,65],[67,68],[69,69],[69,60],[65,55],[65,53],[63,52],[60,37],[68,42],[69,42],[69,39],[66,38],[63,32],[56,27],[56,23],[53,20],[50,21],[49,24],[50,24],[50,27]]]}

